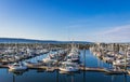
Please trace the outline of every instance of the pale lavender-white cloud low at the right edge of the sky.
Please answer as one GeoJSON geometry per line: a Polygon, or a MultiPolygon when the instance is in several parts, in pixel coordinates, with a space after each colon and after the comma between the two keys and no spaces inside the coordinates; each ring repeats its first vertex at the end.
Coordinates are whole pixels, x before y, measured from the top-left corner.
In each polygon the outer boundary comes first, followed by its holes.
{"type": "Polygon", "coordinates": [[[130,42],[130,25],[113,27],[99,35],[105,42],[130,42]]]}

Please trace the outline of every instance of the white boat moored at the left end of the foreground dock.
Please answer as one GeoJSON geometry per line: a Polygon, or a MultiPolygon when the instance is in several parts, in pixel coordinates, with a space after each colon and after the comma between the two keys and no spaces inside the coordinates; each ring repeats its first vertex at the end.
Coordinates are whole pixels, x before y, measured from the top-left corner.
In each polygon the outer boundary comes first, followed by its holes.
{"type": "Polygon", "coordinates": [[[10,65],[9,68],[10,68],[10,70],[26,70],[27,69],[26,66],[24,66],[22,64],[17,64],[17,63],[10,65]]]}

